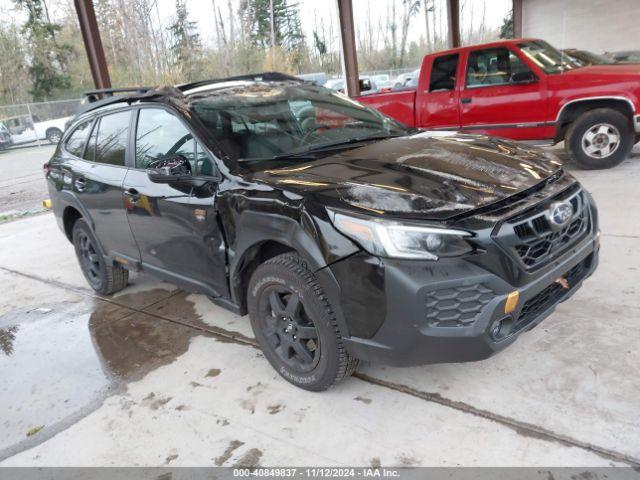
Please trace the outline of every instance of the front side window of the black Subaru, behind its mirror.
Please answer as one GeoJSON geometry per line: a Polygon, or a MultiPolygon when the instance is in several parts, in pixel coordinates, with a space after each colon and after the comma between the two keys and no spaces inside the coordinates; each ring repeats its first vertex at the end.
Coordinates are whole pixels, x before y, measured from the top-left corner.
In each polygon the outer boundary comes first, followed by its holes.
{"type": "Polygon", "coordinates": [[[182,155],[196,171],[196,142],[184,124],[159,108],[142,108],[136,130],[136,168],[147,168],[154,160],[182,155]]]}

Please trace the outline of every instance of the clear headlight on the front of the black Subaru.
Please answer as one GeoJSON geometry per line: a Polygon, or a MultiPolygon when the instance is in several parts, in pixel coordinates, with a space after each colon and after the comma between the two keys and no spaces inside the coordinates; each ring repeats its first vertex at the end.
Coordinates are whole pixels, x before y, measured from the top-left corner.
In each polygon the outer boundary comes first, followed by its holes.
{"type": "Polygon", "coordinates": [[[473,246],[465,240],[471,234],[462,230],[374,220],[331,210],[329,216],[339,232],[373,255],[437,260],[473,251],[473,246]]]}

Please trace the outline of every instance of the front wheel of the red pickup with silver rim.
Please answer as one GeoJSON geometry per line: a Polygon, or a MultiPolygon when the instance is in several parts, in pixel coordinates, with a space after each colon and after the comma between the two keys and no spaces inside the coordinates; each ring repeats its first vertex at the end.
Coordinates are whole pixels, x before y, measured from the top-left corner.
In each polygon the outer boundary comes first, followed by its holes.
{"type": "Polygon", "coordinates": [[[627,158],[633,140],[627,117],[610,108],[596,108],[569,126],[565,149],[584,169],[611,168],[627,158]]]}

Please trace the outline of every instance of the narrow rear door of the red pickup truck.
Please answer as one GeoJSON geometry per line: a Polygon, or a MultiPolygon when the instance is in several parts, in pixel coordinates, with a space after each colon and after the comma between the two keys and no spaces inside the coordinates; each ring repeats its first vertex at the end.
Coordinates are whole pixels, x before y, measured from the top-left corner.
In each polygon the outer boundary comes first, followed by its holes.
{"type": "Polygon", "coordinates": [[[422,71],[430,73],[428,80],[423,80],[422,84],[418,85],[416,126],[447,130],[460,128],[460,109],[456,90],[459,64],[460,55],[457,53],[433,59],[428,57],[423,64],[422,71]],[[431,61],[430,64],[429,61],[431,61]]]}

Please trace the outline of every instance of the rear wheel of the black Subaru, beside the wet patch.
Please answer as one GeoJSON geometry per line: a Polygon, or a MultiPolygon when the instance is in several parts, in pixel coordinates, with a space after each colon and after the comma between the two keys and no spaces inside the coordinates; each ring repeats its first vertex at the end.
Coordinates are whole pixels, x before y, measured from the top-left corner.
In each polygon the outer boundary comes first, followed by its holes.
{"type": "Polygon", "coordinates": [[[84,219],[76,220],[71,238],[80,269],[91,288],[102,295],[111,295],[127,286],[129,271],[105,261],[96,237],[84,219]]]}

